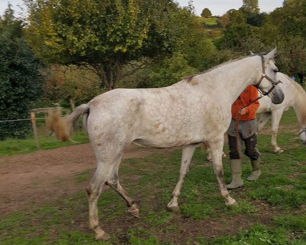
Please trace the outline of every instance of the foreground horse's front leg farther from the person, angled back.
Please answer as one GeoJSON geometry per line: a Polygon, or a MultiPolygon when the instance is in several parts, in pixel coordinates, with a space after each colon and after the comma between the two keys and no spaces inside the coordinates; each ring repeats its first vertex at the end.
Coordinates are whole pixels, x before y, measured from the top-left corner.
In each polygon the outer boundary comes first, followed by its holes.
{"type": "Polygon", "coordinates": [[[168,203],[167,207],[172,211],[179,211],[179,204],[177,204],[177,199],[179,198],[179,195],[181,193],[181,189],[184,183],[184,179],[187,176],[189,165],[191,162],[191,158],[194,153],[194,149],[196,148],[196,145],[187,145],[184,146],[183,152],[182,152],[182,162],[181,162],[181,169],[180,169],[180,180],[177,182],[173,193],[172,193],[172,199],[168,203]]]}

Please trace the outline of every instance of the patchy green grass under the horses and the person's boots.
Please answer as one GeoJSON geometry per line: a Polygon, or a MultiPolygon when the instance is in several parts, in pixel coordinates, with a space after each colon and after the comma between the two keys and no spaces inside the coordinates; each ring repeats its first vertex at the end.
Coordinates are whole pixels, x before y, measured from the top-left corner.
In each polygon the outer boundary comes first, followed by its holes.
{"type": "MultiPolygon", "coordinates": [[[[95,241],[87,229],[87,198],[85,191],[80,191],[63,200],[2,217],[0,244],[304,245],[305,146],[297,137],[293,110],[284,113],[281,125],[277,141],[284,153],[272,153],[270,134],[259,136],[262,176],[231,191],[240,204],[238,207],[225,207],[213,168],[205,161],[206,154],[196,149],[180,195],[180,212],[168,211],[165,207],[179,178],[181,160],[181,151],[174,151],[122,162],[120,182],[138,203],[141,219],[127,214],[124,201],[115,191],[103,192],[98,202],[99,218],[102,227],[111,234],[109,241],[95,241]]],[[[12,141],[11,147],[14,144],[12,141]]],[[[227,145],[224,151],[228,153],[227,145]]],[[[226,183],[230,182],[228,162],[228,157],[224,158],[226,183]]],[[[251,166],[246,157],[243,163],[245,180],[251,166]]],[[[92,174],[92,170],[86,170],[75,176],[74,181],[85,186],[92,174]]]]}

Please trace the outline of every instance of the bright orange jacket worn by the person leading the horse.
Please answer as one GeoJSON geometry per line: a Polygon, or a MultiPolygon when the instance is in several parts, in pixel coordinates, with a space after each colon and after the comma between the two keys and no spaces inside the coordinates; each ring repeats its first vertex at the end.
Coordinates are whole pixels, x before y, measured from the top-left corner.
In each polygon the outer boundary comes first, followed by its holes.
{"type": "MultiPolygon", "coordinates": [[[[247,86],[244,91],[239,95],[237,100],[232,105],[232,118],[236,120],[238,111],[250,103],[252,100],[257,99],[258,90],[253,85],[247,86]]],[[[241,121],[247,121],[256,118],[256,111],[259,107],[259,101],[256,101],[245,108],[245,114],[240,116],[241,121]]]]}

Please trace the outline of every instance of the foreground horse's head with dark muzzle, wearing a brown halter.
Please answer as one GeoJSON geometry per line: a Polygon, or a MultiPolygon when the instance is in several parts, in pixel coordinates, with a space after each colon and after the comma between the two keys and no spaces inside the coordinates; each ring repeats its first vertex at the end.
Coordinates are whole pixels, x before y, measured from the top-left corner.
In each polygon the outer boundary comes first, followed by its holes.
{"type": "Polygon", "coordinates": [[[262,76],[257,83],[258,89],[264,94],[268,95],[273,104],[281,104],[284,101],[283,90],[277,86],[280,81],[277,81],[277,67],[274,64],[274,55],[276,47],[267,55],[260,55],[262,61],[262,76]]]}

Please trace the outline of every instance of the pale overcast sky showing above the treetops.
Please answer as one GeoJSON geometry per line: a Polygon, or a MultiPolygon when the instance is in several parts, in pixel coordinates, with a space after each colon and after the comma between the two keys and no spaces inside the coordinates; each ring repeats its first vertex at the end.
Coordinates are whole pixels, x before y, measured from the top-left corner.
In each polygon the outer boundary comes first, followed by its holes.
{"type": "MultiPolygon", "coordinates": [[[[282,7],[284,0],[259,0],[260,12],[271,12],[275,8],[282,7]]],[[[0,0],[0,15],[3,15],[5,9],[11,3],[16,16],[22,11],[18,5],[22,5],[22,0],[0,0]]],[[[187,6],[188,0],[176,0],[182,7],[187,6]]],[[[195,13],[200,15],[202,10],[208,8],[212,15],[223,15],[227,10],[239,9],[242,6],[242,0],[193,0],[195,13]]]]}

